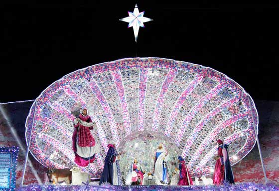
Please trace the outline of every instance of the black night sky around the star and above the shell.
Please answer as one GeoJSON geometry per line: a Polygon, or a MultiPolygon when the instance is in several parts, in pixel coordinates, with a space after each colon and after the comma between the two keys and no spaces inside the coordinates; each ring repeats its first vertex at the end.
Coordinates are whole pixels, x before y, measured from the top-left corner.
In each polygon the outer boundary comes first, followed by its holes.
{"type": "Polygon", "coordinates": [[[35,99],[77,69],[136,56],[211,67],[253,99],[278,101],[278,18],[279,4],[268,1],[1,0],[0,102],[35,99]],[[119,21],[136,3],[153,19],[137,43],[119,21]]]}

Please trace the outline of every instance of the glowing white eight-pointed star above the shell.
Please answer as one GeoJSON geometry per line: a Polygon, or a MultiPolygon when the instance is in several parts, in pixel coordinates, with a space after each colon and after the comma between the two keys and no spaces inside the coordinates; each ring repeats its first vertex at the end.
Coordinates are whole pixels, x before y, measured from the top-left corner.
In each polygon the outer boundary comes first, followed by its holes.
{"type": "Polygon", "coordinates": [[[153,19],[144,17],[143,16],[144,11],[139,12],[139,8],[138,8],[137,4],[135,6],[134,12],[128,11],[128,14],[129,14],[128,17],[121,18],[119,20],[122,20],[122,21],[125,21],[125,22],[129,22],[128,28],[133,26],[134,34],[135,34],[135,40],[137,42],[138,34],[139,34],[139,26],[144,27],[143,22],[148,22],[148,21],[151,21],[153,19]]]}

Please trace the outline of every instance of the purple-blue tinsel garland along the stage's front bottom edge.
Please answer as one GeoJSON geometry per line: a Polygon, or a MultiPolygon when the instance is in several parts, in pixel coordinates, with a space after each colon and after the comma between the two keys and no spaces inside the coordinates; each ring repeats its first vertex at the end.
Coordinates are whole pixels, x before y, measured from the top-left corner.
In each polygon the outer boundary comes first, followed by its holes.
{"type": "Polygon", "coordinates": [[[274,184],[239,183],[223,186],[59,186],[28,185],[16,191],[279,191],[274,184]]]}

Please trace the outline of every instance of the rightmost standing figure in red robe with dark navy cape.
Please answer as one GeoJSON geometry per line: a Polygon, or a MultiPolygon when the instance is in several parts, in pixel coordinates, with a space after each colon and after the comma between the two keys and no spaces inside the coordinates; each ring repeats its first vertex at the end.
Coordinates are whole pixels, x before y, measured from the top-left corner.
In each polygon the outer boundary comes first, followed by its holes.
{"type": "Polygon", "coordinates": [[[225,181],[230,184],[234,184],[234,175],[231,168],[229,155],[228,155],[228,145],[223,144],[223,141],[220,139],[217,140],[218,143],[218,155],[214,157],[216,160],[215,169],[213,173],[213,184],[221,185],[225,181]],[[226,172],[225,172],[226,171],[226,172]]]}

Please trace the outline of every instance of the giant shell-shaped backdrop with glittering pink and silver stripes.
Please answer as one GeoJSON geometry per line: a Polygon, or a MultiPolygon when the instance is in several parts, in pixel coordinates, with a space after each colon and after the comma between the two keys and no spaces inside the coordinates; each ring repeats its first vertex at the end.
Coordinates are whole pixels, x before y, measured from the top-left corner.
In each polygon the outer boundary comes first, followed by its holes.
{"type": "Polygon", "coordinates": [[[122,152],[124,176],[135,156],[152,171],[150,157],[159,142],[172,155],[169,169],[181,155],[191,175],[201,176],[215,164],[217,139],[230,145],[234,165],[252,150],[258,133],[253,100],[226,75],[183,61],[127,58],[74,71],[36,99],[26,120],[26,141],[31,135],[30,151],[42,165],[74,164],[73,119],[82,107],[97,124],[91,131],[101,148],[91,165],[96,175],[110,143],[122,152]]]}

